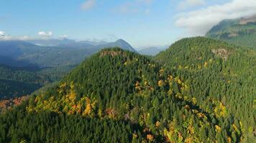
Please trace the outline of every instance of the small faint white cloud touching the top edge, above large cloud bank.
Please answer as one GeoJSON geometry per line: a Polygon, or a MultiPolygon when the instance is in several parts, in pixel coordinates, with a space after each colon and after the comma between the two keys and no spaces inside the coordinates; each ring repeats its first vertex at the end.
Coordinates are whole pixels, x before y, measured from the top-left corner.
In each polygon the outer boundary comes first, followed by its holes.
{"type": "Polygon", "coordinates": [[[201,6],[206,4],[204,0],[183,0],[178,4],[178,9],[187,9],[193,6],[201,6]]]}

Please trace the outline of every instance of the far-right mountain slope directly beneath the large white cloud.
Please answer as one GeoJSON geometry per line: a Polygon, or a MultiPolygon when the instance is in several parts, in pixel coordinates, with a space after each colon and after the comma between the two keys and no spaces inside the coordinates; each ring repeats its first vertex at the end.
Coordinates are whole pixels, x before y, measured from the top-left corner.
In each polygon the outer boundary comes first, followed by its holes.
{"type": "Polygon", "coordinates": [[[221,21],[208,31],[206,36],[240,46],[255,48],[256,16],[221,21]]]}

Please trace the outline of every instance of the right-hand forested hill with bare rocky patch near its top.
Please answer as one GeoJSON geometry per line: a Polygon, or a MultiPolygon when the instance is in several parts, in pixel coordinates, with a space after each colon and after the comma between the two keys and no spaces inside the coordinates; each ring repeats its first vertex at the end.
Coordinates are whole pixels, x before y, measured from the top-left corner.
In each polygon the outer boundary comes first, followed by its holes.
{"type": "Polygon", "coordinates": [[[219,122],[221,126],[242,127],[239,132],[242,138],[235,139],[237,142],[255,140],[255,50],[195,37],[175,42],[155,60],[188,81],[191,85],[188,97],[196,98],[199,107],[211,114],[219,113],[219,117],[227,117],[228,120],[219,122]],[[214,106],[225,107],[225,115],[212,109],[214,106]]]}

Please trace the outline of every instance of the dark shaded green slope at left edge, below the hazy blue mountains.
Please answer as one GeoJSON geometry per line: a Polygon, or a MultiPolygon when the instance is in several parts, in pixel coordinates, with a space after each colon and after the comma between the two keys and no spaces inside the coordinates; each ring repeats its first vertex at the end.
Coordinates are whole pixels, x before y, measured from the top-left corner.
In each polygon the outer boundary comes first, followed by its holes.
{"type": "Polygon", "coordinates": [[[0,65],[0,99],[31,94],[45,84],[59,81],[72,68],[72,66],[63,66],[37,69],[0,65]]]}

